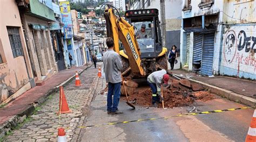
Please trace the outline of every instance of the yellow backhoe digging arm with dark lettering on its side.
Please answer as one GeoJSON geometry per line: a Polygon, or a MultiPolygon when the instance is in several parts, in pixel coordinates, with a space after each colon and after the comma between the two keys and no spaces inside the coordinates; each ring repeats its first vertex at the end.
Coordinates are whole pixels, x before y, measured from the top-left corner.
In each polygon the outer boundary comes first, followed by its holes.
{"type": "Polygon", "coordinates": [[[126,54],[129,56],[130,68],[133,74],[145,75],[140,59],[140,50],[135,38],[134,27],[122,17],[114,14],[113,9],[105,9],[107,37],[114,40],[114,51],[119,54],[119,40],[124,45],[126,54]]]}

